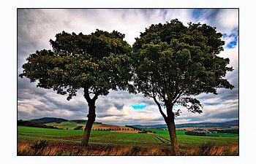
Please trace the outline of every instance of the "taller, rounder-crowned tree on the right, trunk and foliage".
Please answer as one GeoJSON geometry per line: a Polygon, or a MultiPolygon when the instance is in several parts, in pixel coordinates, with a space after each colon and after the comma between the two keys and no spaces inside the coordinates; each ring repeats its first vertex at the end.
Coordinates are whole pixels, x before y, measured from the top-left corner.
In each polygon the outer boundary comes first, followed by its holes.
{"type": "Polygon", "coordinates": [[[174,119],[181,112],[173,106],[201,113],[203,105],[195,95],[217,95],[217,88],[233,88],[225,79],[226,72],[233,71],[227,67],[229,59],[217,56],[225,44],[221,37],[215,27],[184,26],[175,19],[151,25],[133,44],[134,85],[157,104],[169,130],[173,155],[178,155],[174,119]]]}

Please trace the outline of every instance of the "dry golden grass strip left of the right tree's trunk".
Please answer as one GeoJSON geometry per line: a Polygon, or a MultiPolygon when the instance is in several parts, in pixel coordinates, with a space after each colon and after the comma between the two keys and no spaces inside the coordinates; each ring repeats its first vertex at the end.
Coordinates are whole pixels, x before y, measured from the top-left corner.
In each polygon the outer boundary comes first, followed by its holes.
{"type": "Polygon", "coordinates": [[[49,145],[46,141],[37,141],[34,144],[26,142],[18,144],[18,155],[171,155],[170,148],[137,147],[137,146],[113,146],[91,144],[86,149],[49,145]]]}

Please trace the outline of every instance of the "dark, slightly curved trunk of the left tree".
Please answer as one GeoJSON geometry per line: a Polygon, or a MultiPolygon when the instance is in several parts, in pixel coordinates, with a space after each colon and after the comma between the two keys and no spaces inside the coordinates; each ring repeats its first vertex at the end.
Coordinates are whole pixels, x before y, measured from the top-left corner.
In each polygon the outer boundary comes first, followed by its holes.
{"type": "Polygon", "coordinates": [[[82,139],[82,145],[81,145],[82,148],[85,148],[88,146],[91,128],[92,128],[92,125],[94,124],[94,121],[96,118],[95,101],[88,103],[88,106],[89,106],[89,114],[87,114],[88,120],[86,122],[86,128],[84,129],[84,133],[83,133],[83,139],[82,139]]]}

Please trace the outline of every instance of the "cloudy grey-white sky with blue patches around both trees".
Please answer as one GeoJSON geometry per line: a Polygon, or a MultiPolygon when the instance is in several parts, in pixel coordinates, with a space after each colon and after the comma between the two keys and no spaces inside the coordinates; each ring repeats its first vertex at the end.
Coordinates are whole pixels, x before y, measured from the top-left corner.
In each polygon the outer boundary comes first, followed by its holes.
{"type": "MultiPolygon", "coordinates": [[[[217,27],[225,40],[220,56],[230,58],[234,71],[226,78],[233,90],[218,90],[219,95],[201,94],[202,114],[182,109],[176,124],[185,122],[225,122],[238,119],[238,9],[18,9],[18,74],[29,54],[51,49],[49,40],[67,31],[91,34],[97,28],[125,34],[129,44],[151,24],[165,23],[174,18],[188,22],[207,23],[217,27]]],[[[17,74],[17,76],[18,76],[17,74]]],[[[86,119],[88,107],[82,90],[72,100],[51,90],[36,87],[36,82],[18,77],[18,120],[39,117],[86,119]]],[[[162,115],[151,99],[124,91],[110,91],[97,100],[96,121],[115,125],[163,124],[162,115]]]]}

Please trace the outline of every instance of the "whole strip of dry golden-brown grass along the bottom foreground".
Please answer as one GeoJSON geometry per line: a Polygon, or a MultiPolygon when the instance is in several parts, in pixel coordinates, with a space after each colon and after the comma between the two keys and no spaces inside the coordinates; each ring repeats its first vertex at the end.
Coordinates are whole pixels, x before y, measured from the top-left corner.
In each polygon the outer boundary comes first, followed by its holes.
{"type": "MultiPolygon", "coordinates": [[[[63,149],[48,145],[47,141],[19,143],[18,155],[172,155],[170,147],[137,147],[137,146],[103,146],[90,145],[88,149],[78,150],[79,147],[63,149]]],[[[197,148],[187,149],[181,155],[238,155],[238,146],[216,147],[203,144],[197,148]]]]}

